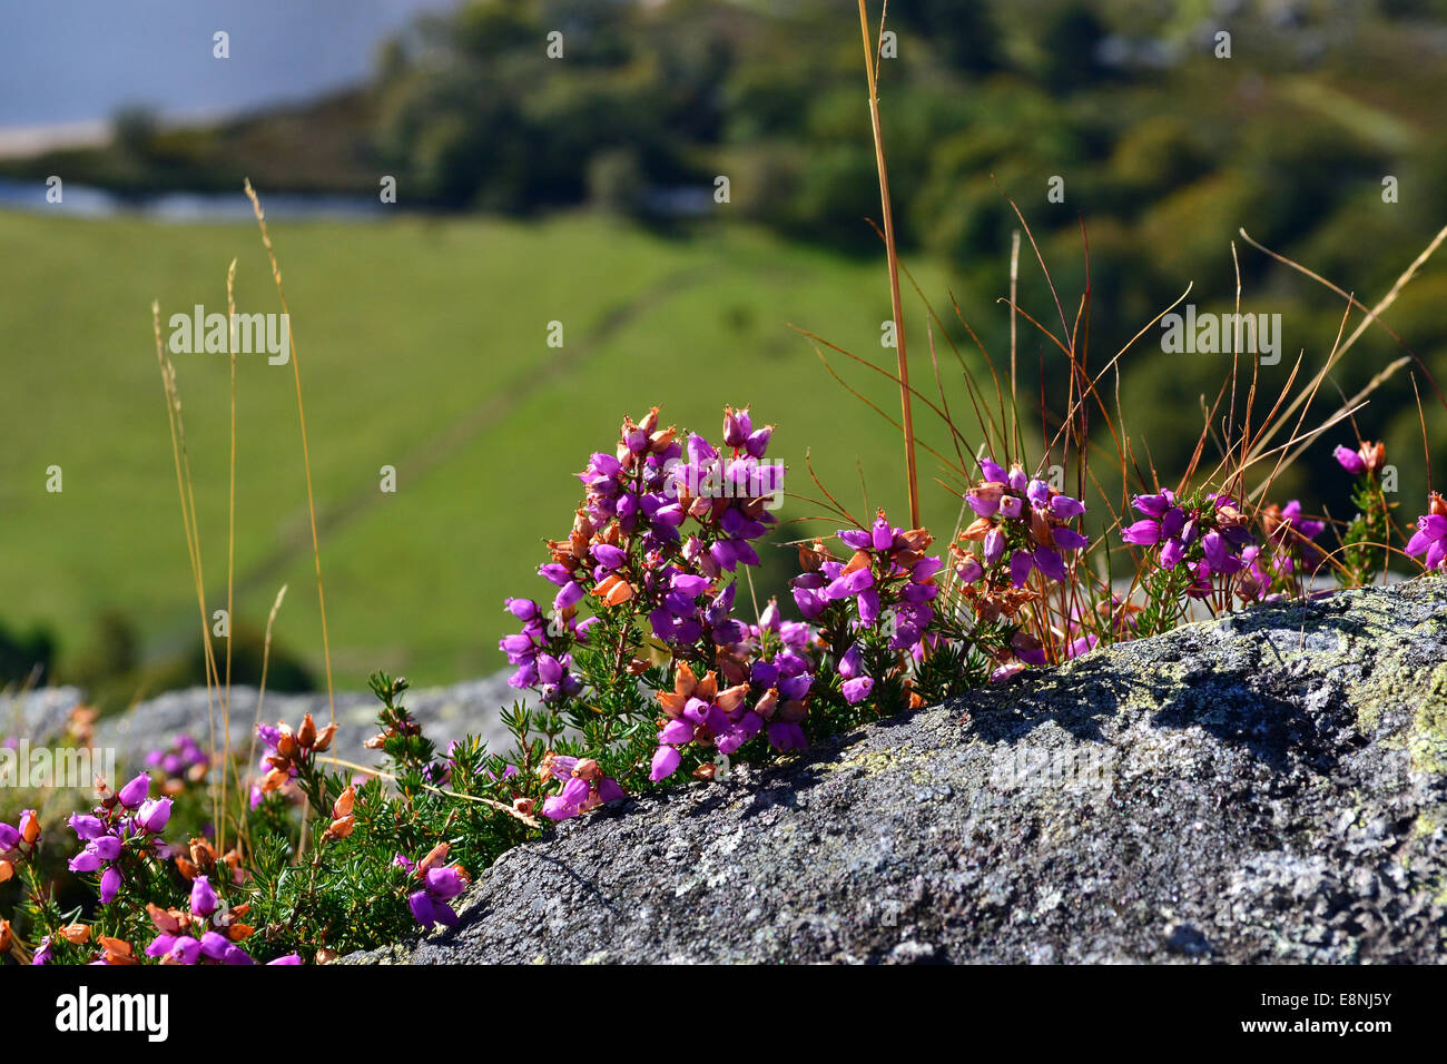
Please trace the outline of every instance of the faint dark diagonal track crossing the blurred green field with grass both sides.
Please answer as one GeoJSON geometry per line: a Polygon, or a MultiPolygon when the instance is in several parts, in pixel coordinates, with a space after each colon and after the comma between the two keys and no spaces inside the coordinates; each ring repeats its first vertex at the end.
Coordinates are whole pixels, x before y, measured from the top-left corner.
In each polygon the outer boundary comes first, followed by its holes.
{"type": "MultiPolygon", "coordinates": [[[[598,327],[593,330],[590,337],[582,343],[569,342],[567,346],[559,347],[557,352],[546,360],[535,366],[530,366],[517,381],[499,389],[482,405],[469,411],[451,426],[424,440],[421,446],[405,455],[402,460],[396,463],[398,470],[401,472],[405,469],[408,479],[411,481],[421,479],[449,457],[456,455],[476,436],[506,418],[524,400],[535,395],[544,387],[577,369],[583,362],[601,350],[609,339],[612,339],[618,332],[627,327],[650,307],[657,305],[663,300],[670,298],[680,291],[700,284],[705,278],[712,275],[712,268],[706,266],[676,271],[635,298],[615,304],[603,314],[602,321],[598,323],[598,327]]],[[[359,488],[352,495],[347,495],[339,502],[323,508],[317,514],[317,536],[320,537],[326,533],[346,527],[359,517],[363,517],[372,507],[376,507],[381,502],[381,492],[378,492],[376,485],[369,481],[368,486],[359,488]]],[[[298,515],[294,521],[284,523],[284,527],[287,525],[295,527],[298,531],[279,539],[278,546],[269,554],[245,573],[237,575],[237,594],[275,588],[288,566],[291,566],[298,556],[311,550],[311,531],[310,524],[305,521],[304,511],[298,510],[298,515]]]]}

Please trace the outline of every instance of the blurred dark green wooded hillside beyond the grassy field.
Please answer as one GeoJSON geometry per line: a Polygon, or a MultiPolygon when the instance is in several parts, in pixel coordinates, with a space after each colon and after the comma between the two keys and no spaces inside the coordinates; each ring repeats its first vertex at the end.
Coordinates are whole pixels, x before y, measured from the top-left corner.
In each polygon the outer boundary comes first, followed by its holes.
{"type": "MultiPolygon", "coordinates": [[[[1268,407],[1298,353],[1301,379],[1325,359],[1343,305],[1237,230],[1372,303],[1447,220],[1435,103],[1447,91],[1444,0],[916,0],[891,4],[888,25],[894,56],[881,61],[880,91],[899,240],[952,266],[961,311],[997,360],[1007,347],[997,300],[1019,227],[1010,198],[1068,318],[1085,291],[1088,242],[1094,365],[1188,284],[1198,308],[1231,310],[1239,271],[1242,310],[1283,318],[1281,363],[1262,368],[1268,407]],[[1053,178],[1059,201],[1048,195],[1053,178]]],[[[375,146],[438,207],[528,214],[593,203],[670,226],[697,213],[878,253],[864,221],[880,204],[861,51],[854,6],[825,0],[479,0],[386,46],[375,146]],[[548,55],[553,32],[561,58],[548,55]],[[729,178],[726,208],[712,200],[716,175],[729,178]]],[[[949,318],[949,294],[929,295],[949,318]]],[[[1020,303],[1062,332],[1029,242],[1020,303]]],[[[1444,303],[1447,272],[1434,265],[1386,318],[1441,381],[1444,303]]],[[[955,339],[968,343],[964,330],[955,339]]],[[[1401,353],[1370,332],[1307,426],[1401,353]]],[[[1064,395],[1064,356],[1024,323],[1020,358],[1030,394],[1043,384],[1064,395]]],[[[1174,478],[1230,358],[1166,355],[1149,333],[1121,366],[1127,428],[1149,447],[1137,457],[1174,478]]],[[[1443,404],[1414,369],[1440,444],[1443,404]]],[[[1417,505],[1425,476],[1412,384],[1398,372],[1357,424],[1388,439],[1404,499],[1417,505]]],[[[1331,440],[1350,434],[1343,426],[1331,440]]],[[[1344,508],[1330,447],[1288,470],[1282,489],[1344,508]]]]}

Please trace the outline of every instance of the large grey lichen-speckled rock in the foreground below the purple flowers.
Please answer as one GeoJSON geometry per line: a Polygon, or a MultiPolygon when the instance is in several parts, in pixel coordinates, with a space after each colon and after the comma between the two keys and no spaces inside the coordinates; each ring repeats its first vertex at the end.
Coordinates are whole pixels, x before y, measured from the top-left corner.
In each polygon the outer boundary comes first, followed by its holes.
{"type": "Polygon", "coordinates": [[[350,963],[1440,961],[1447,580],[1260,607],[629,799],[350,963]]]}

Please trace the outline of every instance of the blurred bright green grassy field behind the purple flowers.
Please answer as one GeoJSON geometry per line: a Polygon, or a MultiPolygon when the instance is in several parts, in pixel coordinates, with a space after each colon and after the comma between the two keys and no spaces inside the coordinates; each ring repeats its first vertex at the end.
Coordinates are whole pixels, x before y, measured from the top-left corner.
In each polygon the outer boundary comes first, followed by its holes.
{"type": "MultiPolygon", "coordinates": [[[[715,437],[725,402],[752,404],[757,421],[778,424],[773,453],[796,491],[813,494],[812,449],[831,491],[862,510],[858,459],[870,504],[903,517],[899,437],[786,326],[893,359],[878,340],[883,258],[841,261],[738,227],[669,240],[593,216],[281,221],[272,237],[300,352],[339,686],[376,667],[443,683],[501,664],[502,598],[546,591],[532,570],[541,539],[569,527],[572,473],[650,404],[715,437]],[[561,349],[547,346],[554,320],[561,349]],[[383,465],[398,470],[395,495],[379,489],[383,465]]],[[[197,303],[224,311],[236,258],[239,311],[275,311],[258,232],[0,214],[0,618],[51,625],[62,670],[103,609],[133,618],[148,656],[174,654],[195,643],[198,621],[150,301],[164,326],[197,303]],[[61,494],[45,491],[52,465],[61,494]]],[[[948,307],[942,275],[919,274],[948,307]]],[[[227,358],[175,360],[214,609],[226,591],[227,358]]],[[[320,676],[292,371],[260,355],[240,362],[237,622],[262,627],[289,583],[276,636],[320,676]]],[[[897,410],[884,378],[845,372],[897,410]]],[[[941,431],[922,434],[948,447],[941,431]]],[[[932,484],[928,460],[922,470],[932,484]]],[[[926,520],[948,534],[948,494],[926,498],[926,520]]]]}

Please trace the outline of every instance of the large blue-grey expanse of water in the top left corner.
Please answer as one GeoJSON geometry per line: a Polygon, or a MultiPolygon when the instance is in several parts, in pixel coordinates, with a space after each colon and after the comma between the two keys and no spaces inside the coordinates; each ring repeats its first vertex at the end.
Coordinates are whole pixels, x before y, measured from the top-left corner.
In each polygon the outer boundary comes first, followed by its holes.
{"type": "Polygon", "coordinates": [[[368,78],[376,49],[456,0],[65,0],[0,4],[0,133],[145,106],[217,119],[368,78]],[[230,58],[213,35],[230,35],[230,58]]]}

